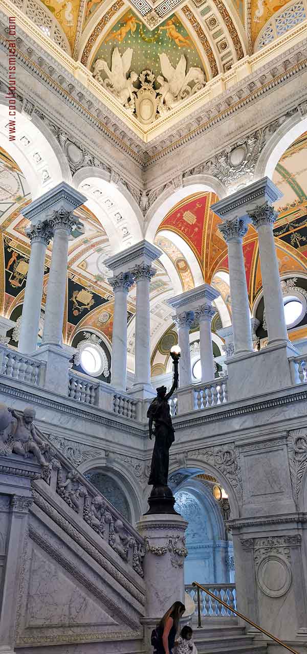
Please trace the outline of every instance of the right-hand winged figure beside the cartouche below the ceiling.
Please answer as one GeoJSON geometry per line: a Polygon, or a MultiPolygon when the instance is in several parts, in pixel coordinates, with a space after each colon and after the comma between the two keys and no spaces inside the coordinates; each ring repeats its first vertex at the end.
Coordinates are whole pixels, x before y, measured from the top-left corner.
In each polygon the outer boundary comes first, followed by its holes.
{"type": "Polygon", "coordinates": [[[186,73],[187,60],[182,54],[177,66],[173,68],[167,54],[162,52],[159,54],[160,65],[163,78],[157,78],[161,85],[158,93],[162,95],[162,100],[172,108],[178,101],[184,99],[188,95],[196,93],[196,91],[203,88],[206,84],[205,75],[200,68],[192,67],[186,73]],[[167,82],[165,82],[167,80],[167,82]],[[190,82],[194,82],[194,86],[190,86],[190,82]]]}

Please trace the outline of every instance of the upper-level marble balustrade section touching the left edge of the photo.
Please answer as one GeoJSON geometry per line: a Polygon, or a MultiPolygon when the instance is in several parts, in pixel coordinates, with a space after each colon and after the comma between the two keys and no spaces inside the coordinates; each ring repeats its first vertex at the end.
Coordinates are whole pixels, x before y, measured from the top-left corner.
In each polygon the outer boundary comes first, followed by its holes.
{"type": "Polygon", "coordinates": [[[35,358],[20,354],[16,350],[6,348],[2,353],[1,373],[17,381],[24,381],[33,386],[41,386],[44,381],[46,364],[35,358]]]}

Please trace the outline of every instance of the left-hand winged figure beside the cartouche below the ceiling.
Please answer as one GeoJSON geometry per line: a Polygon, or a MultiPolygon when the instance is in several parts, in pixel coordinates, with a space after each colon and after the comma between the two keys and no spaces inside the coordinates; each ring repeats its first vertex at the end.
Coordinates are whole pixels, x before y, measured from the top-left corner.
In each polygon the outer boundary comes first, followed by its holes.
{"type": "Polygon", "coordinates": [[[126,104],[134,91],[137,91],[132,84],[137,79],[137,74],[131,73],[128,79],[126,77],[130,69],[133,53],[133,48],[127,48],[121,56],[118,48],[115,48],[112,54],[111,71],[107,62],[103,59],[98,59],[94,64],[94,77],[101,82],[104,88],[116,95],[122,105],[126,104]],[[107,78],[103,80],[101,73],[106,73],[107,78]]]}

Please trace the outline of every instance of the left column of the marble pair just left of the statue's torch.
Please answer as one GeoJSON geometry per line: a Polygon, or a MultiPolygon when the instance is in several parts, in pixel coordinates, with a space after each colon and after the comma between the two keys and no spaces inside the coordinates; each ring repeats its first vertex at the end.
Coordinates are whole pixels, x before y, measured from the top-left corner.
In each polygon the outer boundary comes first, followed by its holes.
{"type": "Polygon", "coordinates": [[[120,273],[108,281],[114,291],[111,385],[126,392],[127,296],[134,277],[131,273],[120,273]]]}

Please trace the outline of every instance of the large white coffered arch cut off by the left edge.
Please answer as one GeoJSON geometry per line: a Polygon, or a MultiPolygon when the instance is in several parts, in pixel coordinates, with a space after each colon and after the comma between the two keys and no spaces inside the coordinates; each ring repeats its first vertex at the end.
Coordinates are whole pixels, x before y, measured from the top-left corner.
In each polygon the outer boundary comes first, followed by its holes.
{"type": "Polygon", "coordinates": [[[38,116],[32,114],[29,120],[22,114],[22,105],[18,101],[16,101],[16,139],[9,140],[5,128],[8,114],[7,102],[4,95],[0,94],[1,145],[24,173],[31,199],[39,198],[62,181],[70,184],[69,165],[58,141],[38,116]]]}

